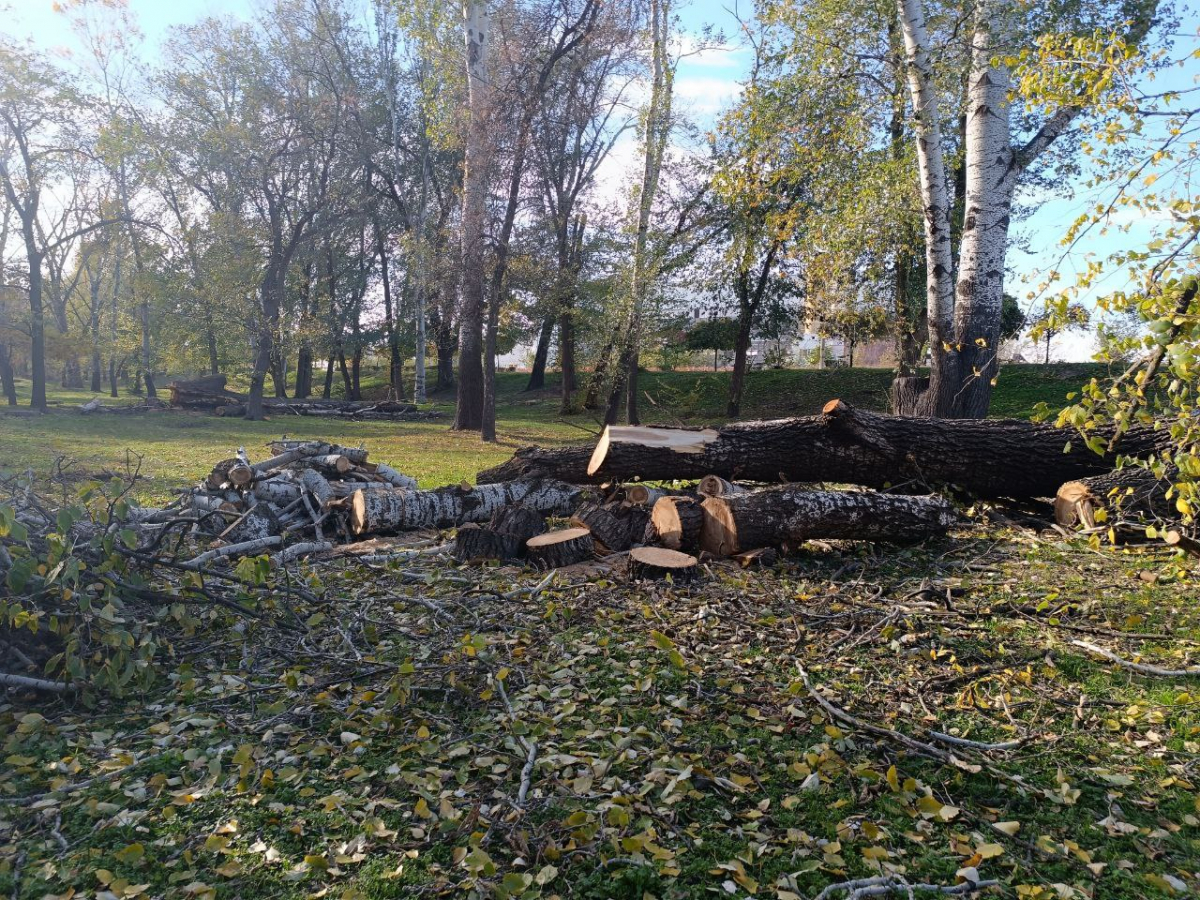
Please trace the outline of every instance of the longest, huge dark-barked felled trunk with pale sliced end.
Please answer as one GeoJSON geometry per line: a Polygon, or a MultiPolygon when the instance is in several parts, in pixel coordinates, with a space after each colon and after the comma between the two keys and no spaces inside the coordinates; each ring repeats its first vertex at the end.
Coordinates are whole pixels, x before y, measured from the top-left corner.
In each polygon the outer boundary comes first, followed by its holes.
{"type": "MultiPolygon", "coordinates": [[[[1112,432],[1093,433],[1108,440],[1112,432]]],[[[610,426],[586,464],[582,448],[524,449],[481,472],[479,481],[545,476],[583,484],[718,475],[767,484],[907,486],[913,492],[953,485],[985,498],[1052,497],[1064,481],[1104,474],[1118,456],[1144,458],[1169,442],[1165,430],[1136,426],[1122,434],[1114,452],[1099,456],[1074,432],[1051,425],[894,416],[830,401],[821,415],[720,428],[610,426]],[[1068,444],[1070,452],[1064,452],[1068,444]]]]}

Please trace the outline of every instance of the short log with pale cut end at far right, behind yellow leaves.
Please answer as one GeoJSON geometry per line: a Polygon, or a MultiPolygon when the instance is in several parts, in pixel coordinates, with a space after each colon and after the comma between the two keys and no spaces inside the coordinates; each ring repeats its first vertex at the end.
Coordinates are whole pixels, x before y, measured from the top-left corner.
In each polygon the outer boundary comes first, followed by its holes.
{"type": "Polygon", "coordinates": [[[1103,475],[1068,481],[1055,494],[1054,518],[1063,528],[1096,528],[1097,510],[1105,524],[1122,520],[1170,520],[1178,512],[1166,499],[1174,475],[1157,478],[1150,469],[1127,466],[1103,475]]]}

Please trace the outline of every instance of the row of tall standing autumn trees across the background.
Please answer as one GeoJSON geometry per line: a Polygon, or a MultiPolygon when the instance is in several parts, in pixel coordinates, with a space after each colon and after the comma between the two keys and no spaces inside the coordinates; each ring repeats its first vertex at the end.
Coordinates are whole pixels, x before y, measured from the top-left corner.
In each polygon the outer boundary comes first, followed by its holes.
{"type": "Polygon", "coordinates": [[[271,0],[148,48],[120,4],[73,0],[68,60],[0,40],[10,402],[16,367],[38,409],[52,372],[154,397],[167,371],[232,371],[258,419],[268,390],[360,397],[379,356],[394,396],[454,388],[455,427],[493,440],[497,354],[527,341],[563,413],[637,422],[638,372],[700,298],[736,323],[730,415],[754,336],[797,323],[890,335],[898,412],[986,414],[1014,223],[1111,88],[1022,85],[1048,40],[1132,55],[1166,12],[760,0],[728,38],[679,12],[271,0]],[[751,61],[709,127],[676,80],[722,43],[751,61]]]}

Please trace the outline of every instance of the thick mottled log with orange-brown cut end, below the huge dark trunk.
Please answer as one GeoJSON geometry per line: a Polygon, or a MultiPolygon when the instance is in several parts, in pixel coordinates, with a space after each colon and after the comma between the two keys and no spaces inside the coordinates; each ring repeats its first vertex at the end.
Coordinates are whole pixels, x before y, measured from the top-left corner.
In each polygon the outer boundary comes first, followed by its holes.
{"type": "Polygon", "coordinates": [[[814,538],[907,544],[944,534],[958,518],[954,506],[940,497],[808,491],[788,485],[740,497],[709,497],[702,506],[700,546],[719,557],[814,538]]]}

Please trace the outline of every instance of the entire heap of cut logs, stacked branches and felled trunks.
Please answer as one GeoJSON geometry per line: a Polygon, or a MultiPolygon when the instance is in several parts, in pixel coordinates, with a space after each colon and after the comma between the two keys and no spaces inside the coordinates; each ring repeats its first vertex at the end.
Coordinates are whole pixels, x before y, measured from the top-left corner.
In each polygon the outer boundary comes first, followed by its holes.
{"type": "MultiPolygon", "coordinates": [[[[259,462],[244,451],[222,461],[180,505],[216,539],[192,566],[263,552],[289,560],[371,535],[456,528],[446,548],[463,563],[558,568],[601,558],[624,560],[634,578],[676,582],[695,578],[703,560],[769,565],[779,550],[810,540],[944,535],[959,521],[947,493],[1057,493],[1058,521],[1091,528],[1109,520],[1109,508],[1169,514],[1162,479],[1114,470],[1118,454],[1162,452],[1162,432],[1130,430],[1110,456],[1072,449],[1069,439],[1033,422],[902,419],[833,401],[818,416],[721,428],[611,426],[594,448],[520,450],[475,486],[430,491],[368,462],[366,450],[281,440],[259,462]]],[[[1200,547],[1181,530],[1164,534],[1200,547]]]]}

